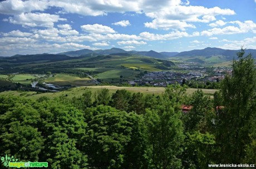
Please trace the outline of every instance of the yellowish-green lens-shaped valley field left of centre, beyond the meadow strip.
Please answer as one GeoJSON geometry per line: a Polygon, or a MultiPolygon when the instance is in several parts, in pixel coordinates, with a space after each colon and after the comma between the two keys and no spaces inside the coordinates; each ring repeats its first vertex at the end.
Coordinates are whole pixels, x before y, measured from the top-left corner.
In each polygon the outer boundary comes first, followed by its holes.
{"type": "Polygon", "coordinates": [[[70,76],[68,74],[55,74],[54,77],[47,78],[45,82],[60,84],[60,85],[71,85],[71,86],[90,86],[90,78],[80,78],[77,76],[70,76]]]}

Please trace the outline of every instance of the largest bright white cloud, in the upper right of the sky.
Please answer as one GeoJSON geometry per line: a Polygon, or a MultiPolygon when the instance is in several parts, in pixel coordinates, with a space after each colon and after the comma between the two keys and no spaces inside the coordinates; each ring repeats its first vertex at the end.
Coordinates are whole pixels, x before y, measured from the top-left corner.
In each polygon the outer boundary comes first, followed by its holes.
{"type": "Polygon", "coordinates": [[[230,9],[221,9],[219,7],[205,8],[201,6],[168,6],[154,12],[146,12],[146,16],[153,18],[152,22],[145,23],[150,28],[179,28],[194,27],[188,22],[214,21],[218,15],[232,15],[234,11],[230,9]],[[167,22],[166,22],[167,21],[167,22]]]}

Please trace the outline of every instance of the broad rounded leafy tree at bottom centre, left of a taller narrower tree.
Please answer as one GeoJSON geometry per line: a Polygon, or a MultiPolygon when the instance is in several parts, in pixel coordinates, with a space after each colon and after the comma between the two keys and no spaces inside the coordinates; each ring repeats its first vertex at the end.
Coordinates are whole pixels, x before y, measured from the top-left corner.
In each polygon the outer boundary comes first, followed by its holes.
{"type": "Polygon", "coordinates": [[[143,121],[135,113],[110,106],[87,108],[88,130],[82,138],[91,168],[142,168],[143,121]]]}

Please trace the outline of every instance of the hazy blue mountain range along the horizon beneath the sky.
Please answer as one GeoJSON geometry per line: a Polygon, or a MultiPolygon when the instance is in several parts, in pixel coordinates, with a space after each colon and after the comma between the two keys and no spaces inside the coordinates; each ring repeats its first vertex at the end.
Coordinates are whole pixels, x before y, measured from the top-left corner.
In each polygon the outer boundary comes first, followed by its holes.
{"type": "MultiPolygon", "coordinates": [[[[196,62],[196,63],[221,63],[232,61],[234,58],[237,59],[237,52],[240,50],[229,50],[221,48],[204,48],[195,49],[184,52],[155,52],[155,51],[125,51],[120,48],[111,49],[81,49],[78,51],[68,51],[58,54],[27,54],[20,55],[16,54],[12,57],[0,57],[0,62],[38,62],[38,61],[63,61],[75,58],[84,57],[95,57],[95,56],[147,56],[154,57],[157,59],[168,59],[173,61],[185,61],[185,62],[196,62]],[[75,58],[74,58],[75,57],[75,58]]],[[[256,49],[246,49],[245,56],[248,53],[252,53],[253,57],[256,58],[256,49]]]]}

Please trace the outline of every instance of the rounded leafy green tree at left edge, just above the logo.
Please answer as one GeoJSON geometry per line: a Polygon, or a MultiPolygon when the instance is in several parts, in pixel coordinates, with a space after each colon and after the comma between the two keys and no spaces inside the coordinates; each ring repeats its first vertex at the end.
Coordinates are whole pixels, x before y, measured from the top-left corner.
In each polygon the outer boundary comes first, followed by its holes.
{"type": "Polygon", "coordinates": [[[37,161],[45,141],[37,128],[40,113],[31,106],[34,102],[19,99],[6,99],[13,107],[0,115],[0,152],[16,156],[19,160],[37,161]]]}

